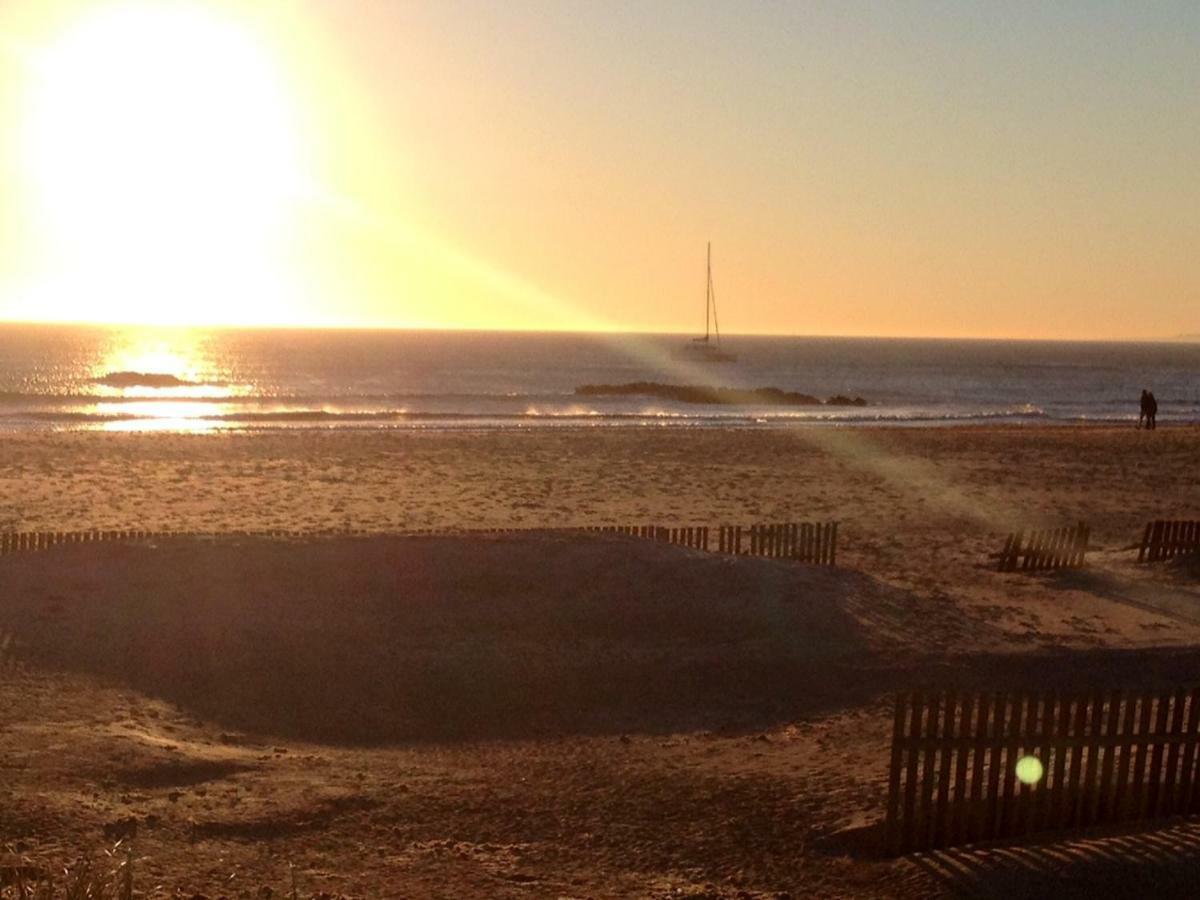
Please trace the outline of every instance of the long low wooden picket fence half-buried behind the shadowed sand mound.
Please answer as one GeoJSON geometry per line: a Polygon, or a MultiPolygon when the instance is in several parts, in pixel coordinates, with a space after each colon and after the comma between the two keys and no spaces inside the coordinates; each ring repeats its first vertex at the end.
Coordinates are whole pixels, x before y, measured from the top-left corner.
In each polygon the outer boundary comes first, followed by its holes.
{"type": "MultiPolygon", "coordinates": [[[[431,529],[422,532],[403,532],[401,534],[496,534],[520,533],[518,528],[485,529],[431,529]]],[[[556,530],[556,529],[548,529],[556,530]]],[[[568,529],[574,530],[574,529],[568,529]]],[[[814,565],[835,565],[838,559],[838,523],[836,522],[787,522],[781,524],[758,526],[708,526],[666,528],[662,526],[592,526],[582,530],[605,534],[626,534],[635,538],[665,541],[684,547],[694,547],[718,553],[739,556],[773,557],[776,559],[794,559],[814,565]]],[[[58,544],[92,544],[114,540],[150,540],[170,536],[215,536],[216,533],[182,532],[132,532],[132,530],[91,530],[91,532],[20,532],[0,533],[0,554],[26,550],[46,550],[58,544]]],[[[370,532],[358,529],[326,532],[232,532],[230,534],[258,535],[272,538],[311,538],[320,535],[362,535],[370,532]]]]}

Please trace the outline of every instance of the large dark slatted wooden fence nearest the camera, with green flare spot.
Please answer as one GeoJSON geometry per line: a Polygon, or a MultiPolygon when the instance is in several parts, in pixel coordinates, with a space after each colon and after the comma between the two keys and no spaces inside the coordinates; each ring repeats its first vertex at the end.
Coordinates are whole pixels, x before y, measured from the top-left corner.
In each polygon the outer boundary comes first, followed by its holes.
{"type": "Polygon", "coordinates": [[[896,697],[890,852],[1200,812],[1200,688],[896,697]],[[1018,778],[1031,778],[1026,784],[1018,778]]]}

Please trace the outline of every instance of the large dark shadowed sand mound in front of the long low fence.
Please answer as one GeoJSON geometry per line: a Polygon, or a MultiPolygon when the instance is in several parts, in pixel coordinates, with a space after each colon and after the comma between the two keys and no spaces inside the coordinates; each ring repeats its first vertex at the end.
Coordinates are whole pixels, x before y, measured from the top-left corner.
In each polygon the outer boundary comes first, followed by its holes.
{"type": "Polygon", "coordinates": [[[636,539],[168,539],[0,559],[0,632],[234,727],[390,740],[818,708],[862,576],[636,539]]]}

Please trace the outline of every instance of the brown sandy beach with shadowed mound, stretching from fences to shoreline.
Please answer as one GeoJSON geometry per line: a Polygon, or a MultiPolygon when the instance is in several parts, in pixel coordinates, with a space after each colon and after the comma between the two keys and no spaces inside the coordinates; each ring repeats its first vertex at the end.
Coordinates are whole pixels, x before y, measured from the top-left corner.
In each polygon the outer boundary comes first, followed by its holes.
{"type": "Polygon", "coordinates": [[[226,536],[0,557],[0,846],[136,821],[163,896],[1169,890],[1194,826],[1116,868],[1140,838],[859,838],[896,689],[1194,679],[1195,570],[1130,547],[1196,516],[1198,460],[1194,427],[6,434],[0,530],[226,536]],[[536,530],[816,520],[835,570],[536,530]],[[995,571],[1076,521],[1084,570],[995,571]],[[338,528],[374,536],[236,534],[338,528]],[[434,528],[533,530],[396,536],[434,528]]]}

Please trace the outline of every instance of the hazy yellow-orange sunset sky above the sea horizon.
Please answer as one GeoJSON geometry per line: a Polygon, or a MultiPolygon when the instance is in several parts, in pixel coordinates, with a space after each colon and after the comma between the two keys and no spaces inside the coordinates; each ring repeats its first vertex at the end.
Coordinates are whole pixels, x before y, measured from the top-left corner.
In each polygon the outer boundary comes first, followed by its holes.
{"type": "Polygon", "coordinates": [[[0,5],[0,319],[1200,332],[1194,2],[0,5]]]}

